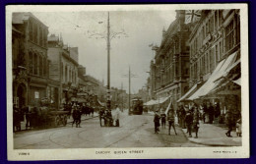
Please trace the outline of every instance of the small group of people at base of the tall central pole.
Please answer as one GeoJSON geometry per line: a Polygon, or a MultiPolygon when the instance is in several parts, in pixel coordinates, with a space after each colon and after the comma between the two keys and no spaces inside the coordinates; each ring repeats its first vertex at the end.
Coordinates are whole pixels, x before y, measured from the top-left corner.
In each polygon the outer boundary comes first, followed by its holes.
{"type": "Polygon", "coordinates": [[[115,106],[114,111],[114,117],[112,117],[111,110],[104,109],[104,107],[101,107],[98,112],[98,118],[99,118],[99,124],[100,127],[119,127],[119,120],[120,120],[120,109],[118,105],[115,106]],[[104,125],[102,125],[102,120],[104,122],[104,125]]]}

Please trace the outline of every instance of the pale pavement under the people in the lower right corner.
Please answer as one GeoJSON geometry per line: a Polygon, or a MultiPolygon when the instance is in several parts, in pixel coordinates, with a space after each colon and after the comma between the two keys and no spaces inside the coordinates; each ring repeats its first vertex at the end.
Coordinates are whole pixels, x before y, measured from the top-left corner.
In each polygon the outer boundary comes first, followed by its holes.
{"type": "Polygon", "coordinates": [[[208,146],[241,146],[242,137],[237,137],[235,131],[231,132],[232,137],[226,137],[225,133],[227,128],[220,127],[215,124],[200,123],[198,138],[195,137],[195,133],[192,133],[192,137],[188,137],[187,130],[182,129],[183,133],[189,139],[189,141],[204,144],[208,146]]]}

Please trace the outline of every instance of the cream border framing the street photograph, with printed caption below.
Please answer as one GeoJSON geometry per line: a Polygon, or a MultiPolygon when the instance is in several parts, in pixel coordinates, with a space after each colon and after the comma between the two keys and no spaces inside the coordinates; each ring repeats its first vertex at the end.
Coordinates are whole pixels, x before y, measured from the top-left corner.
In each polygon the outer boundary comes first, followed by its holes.
{"type": "Polygon", "coordinates": [[[6,79],[7,79],[7,141],[8,160],[71,160],[71,159],[156,159],[156,158],[247,158],[249,157],[249,82],[248,82],[248,9],[247,4],[180,4],[180,5],[9,5],[6,7],[6,79]],[[234,147],[164,147],[164,148],[84,148],[84,149],[13,149],[12,131],[12,12],[71,12],[71,11],[160,11],[187,9],[240,9],[241,18],[241,101],[242,146],[234,147]],[[141,154],[115,155],[114,150],[143,150],[141,154]],[[109,155],[98,155],[109,150],[109,155]],[[236,151],[237,153],[213,153],[236,151]],[[29,156],[19,156],[29,152],[29,156]]]}

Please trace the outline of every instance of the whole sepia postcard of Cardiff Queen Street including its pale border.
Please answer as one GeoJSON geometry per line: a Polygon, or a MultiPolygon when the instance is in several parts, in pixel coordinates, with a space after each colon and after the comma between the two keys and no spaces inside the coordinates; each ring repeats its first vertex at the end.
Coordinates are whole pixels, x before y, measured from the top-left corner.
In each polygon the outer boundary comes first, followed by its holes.
{"type": "Polygon", "coordinates": [[[7,6],[8,158],[249,157],[247,12],[7,6]]]}

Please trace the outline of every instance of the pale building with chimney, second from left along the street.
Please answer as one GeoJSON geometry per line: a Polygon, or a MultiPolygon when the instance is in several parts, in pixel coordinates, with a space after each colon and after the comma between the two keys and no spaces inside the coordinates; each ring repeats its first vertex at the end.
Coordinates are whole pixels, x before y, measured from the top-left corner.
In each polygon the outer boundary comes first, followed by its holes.
{"type": "Polygon", "coordinates": [[[49,79],[58,82],[61,104],[74,101],[78,91],[78,47],[63,44],[62,37],[48,37],[49,79]]]}

